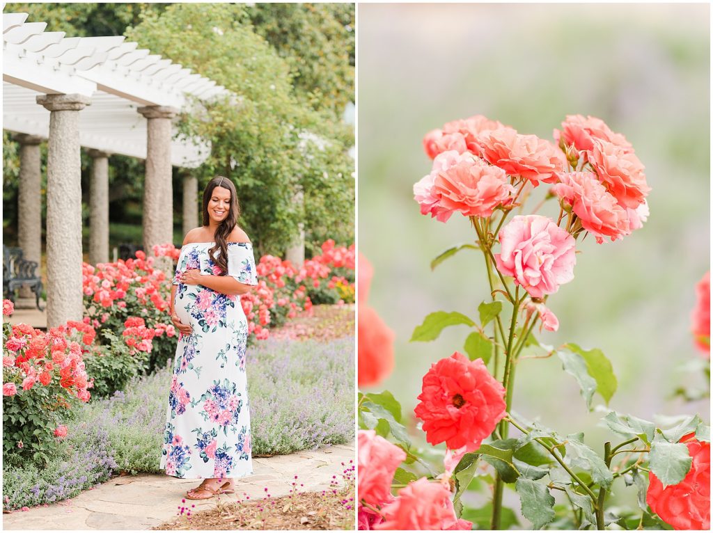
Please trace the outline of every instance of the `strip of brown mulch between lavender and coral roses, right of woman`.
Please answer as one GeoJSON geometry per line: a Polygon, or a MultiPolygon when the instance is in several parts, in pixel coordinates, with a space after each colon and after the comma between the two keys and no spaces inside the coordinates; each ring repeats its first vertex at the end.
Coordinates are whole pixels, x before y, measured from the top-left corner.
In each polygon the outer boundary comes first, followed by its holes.
{"type": "Polygon", "coordinates": [[[312,307],[312,315],[302,313],[287,321],[281,328],[271,329],[272,338],[303,341],[332,341],[354,336],[354,304],[344,306],[319,305],[312,307]]]}

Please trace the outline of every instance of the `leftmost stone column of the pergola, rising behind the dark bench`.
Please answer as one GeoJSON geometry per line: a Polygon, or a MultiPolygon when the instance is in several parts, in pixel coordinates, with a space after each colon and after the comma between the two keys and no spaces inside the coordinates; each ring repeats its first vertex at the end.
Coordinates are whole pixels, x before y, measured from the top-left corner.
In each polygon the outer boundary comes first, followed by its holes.
{"type": "MultiPolygon", "coordinates": [[[[40,143],[44,140],[39,135],[18,133],[13,139],[20,143],[20,179],[17,198],[18,237],[23,257],[41,265],[42,257],[42,181],[40,172],[40,143]]],[[[41,267],[37,267],[41,275],[41,267]]],[[[29,287],[21,287],[21,298],[33,299],[29,287]]]]}

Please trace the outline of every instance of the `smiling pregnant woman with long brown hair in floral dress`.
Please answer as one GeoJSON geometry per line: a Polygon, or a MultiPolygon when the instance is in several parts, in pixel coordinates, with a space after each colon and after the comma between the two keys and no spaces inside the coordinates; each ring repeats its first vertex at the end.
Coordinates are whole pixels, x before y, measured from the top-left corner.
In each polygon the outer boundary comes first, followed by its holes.
{"type": "Polygon", "coordinates": [[[237,225],[235,185],[215,177],[203,192],[203,225],[183,241],[171,289],[180,331],[168,395],[160,468],[202,478],[186,497],[235,492],[252,474],[245,378],[247,319],[240,294],[257,284],[252,244],[237,225]]]}

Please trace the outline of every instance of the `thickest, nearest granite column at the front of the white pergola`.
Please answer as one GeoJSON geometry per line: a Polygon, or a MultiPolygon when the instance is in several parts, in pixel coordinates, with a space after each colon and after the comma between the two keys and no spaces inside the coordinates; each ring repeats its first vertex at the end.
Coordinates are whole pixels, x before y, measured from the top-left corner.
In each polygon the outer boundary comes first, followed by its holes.
{"type": "Polygon", "coordinates": [[[51,111],[47,141],[47,327],[81,320],[82,190],[79,111],[90,99],[48,94],[37,103],[51,111]]]}

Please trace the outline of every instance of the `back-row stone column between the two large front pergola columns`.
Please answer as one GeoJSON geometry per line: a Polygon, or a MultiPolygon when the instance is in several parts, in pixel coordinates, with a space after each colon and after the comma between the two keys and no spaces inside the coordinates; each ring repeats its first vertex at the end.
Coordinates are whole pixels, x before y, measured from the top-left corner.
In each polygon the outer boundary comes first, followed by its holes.
{"type": "Polygon", "coordinates": [[[109,156],[101,150],[87,150],[92,158],[89,188],[89,262],[109,261],[109,156]]]}

